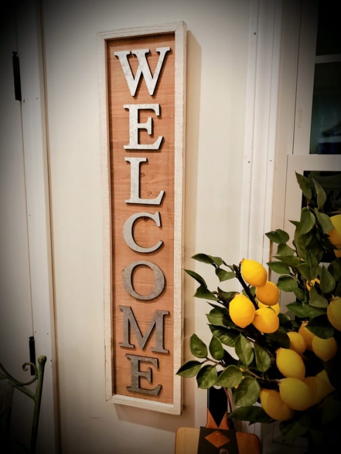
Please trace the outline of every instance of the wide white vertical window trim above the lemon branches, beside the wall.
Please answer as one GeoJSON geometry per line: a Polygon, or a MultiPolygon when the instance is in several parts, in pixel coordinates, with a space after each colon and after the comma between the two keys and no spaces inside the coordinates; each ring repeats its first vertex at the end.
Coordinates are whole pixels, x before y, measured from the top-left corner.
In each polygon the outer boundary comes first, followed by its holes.
{"type": "Polygon", "coordinates": [[[268,261],[281,48],[281,0],[251,2],[240,257],[268,261]]]}

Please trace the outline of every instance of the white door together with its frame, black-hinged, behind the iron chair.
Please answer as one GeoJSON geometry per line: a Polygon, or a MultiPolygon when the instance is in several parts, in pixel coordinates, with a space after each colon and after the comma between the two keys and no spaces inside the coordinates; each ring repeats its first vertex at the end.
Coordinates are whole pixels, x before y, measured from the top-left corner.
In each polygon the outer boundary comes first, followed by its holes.
{"type": "MultiPolygon", "coordinates": [[[[41,109],[44,99],[37,77],[37,10],[34,2],[27,6],[31,6],[31,12],[10,6],[1,12],[0,362],[17,380],[29,381],[30,368],[25,372],[21,366],[34,359],[30,358],[30,338],[31,342],[35,340],[36,359],[40,355],[47,357],[38,449],[41,453],[55,453],[51,245],[41,109]],[[19,56],[21,77],[17,81],[21,100],[18,91],[15,92],[13,52],[19,56]]],[[[11,436],[26,445],[32,412],[33,401],[16,391],[11,436]]]]}

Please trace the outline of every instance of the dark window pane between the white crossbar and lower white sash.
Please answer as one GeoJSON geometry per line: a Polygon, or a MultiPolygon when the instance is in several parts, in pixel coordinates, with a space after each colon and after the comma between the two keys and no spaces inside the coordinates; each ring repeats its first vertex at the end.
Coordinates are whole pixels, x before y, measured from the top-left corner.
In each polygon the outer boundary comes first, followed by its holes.
{"type": "Polygon", "coordinates": [[[315,65],[310,154],[341,154],[341,62],[315,65]]]}

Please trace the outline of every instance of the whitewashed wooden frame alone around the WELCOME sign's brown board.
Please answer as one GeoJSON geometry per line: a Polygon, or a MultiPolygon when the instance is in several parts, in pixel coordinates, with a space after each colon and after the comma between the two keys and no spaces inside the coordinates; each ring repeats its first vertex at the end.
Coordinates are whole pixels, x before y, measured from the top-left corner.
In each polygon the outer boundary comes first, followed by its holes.
{"type": "Polygon", "coordinates": [[[104,265],[104,329],[105,329],[105,379],[106,400],[179,415],[182,409],[182,381],[176,371],[182,364],[183,338],[183,214],[184,214],[184,149],[185,149],[185,106],[186,106],[186,24],[172,22],[150,27],[137,27],[99,32],[99,117],[101,141],[101,171],[103,195],[103,265],[104,265]],[[112,294],[112,236],[110,205],[110,154],[107,96],[106,42],[114,38],[162,35],[175,35],[175,132],[174,132],[174,344],[173,344],[173,403],[159,403],[114,394],[113,378],[113,294],[112,294]]]}

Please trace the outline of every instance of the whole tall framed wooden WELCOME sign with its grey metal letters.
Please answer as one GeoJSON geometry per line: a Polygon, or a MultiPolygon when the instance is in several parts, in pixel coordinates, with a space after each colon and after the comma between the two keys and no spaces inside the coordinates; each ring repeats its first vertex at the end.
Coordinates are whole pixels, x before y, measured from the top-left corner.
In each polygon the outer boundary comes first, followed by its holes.
{"type": "Polygon", "coordinates": [[[180,414],[186,26],[98,41],[107,400],[180,414]]]}

